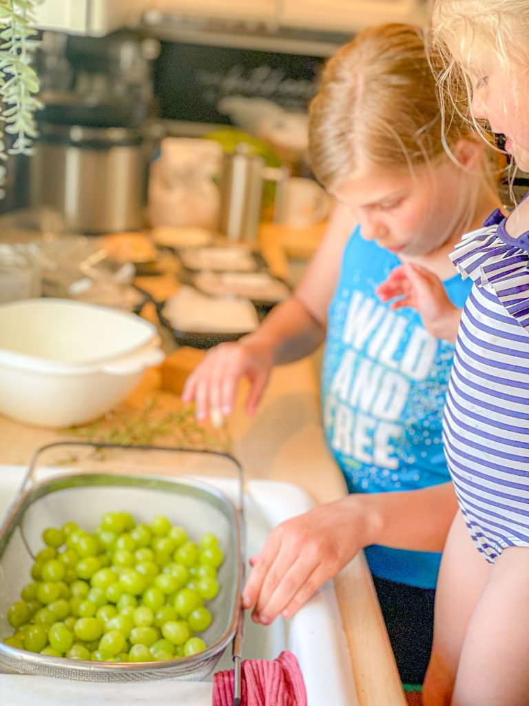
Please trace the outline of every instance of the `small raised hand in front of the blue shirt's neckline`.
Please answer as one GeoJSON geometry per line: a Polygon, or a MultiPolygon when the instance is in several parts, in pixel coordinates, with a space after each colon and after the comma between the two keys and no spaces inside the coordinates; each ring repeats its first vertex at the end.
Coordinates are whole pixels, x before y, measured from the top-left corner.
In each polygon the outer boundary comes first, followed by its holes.
{"type": "Polygon", "coordinates": [[[461,309],[451,303],[441,280],[430,270],[412,263],[400,265],[376,292],[382,301],[399,297],[391,304],[391,309],[411,306],[418,311],[432,336],[451,342],[456,340],[461,309]]]}

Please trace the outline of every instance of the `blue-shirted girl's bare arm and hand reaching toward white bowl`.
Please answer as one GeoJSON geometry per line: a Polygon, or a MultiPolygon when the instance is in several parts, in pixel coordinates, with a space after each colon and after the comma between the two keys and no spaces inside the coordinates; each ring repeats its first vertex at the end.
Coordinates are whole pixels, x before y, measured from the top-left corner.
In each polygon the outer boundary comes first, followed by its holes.
{"type": "Polygon", "coordinates": [[[327,306],[352,225],[348,210],[337,207],[322,244],[293,296],[276,306],[254,333],[236,343],[211,349],[191,373],[182,398],[195,400],[198,419],[205,419],[209,409],[230,414],[238,384],[244,377],[250,381],[246,409],[253,414],[272,367],[299,360],[323,342],[327,306]]]}

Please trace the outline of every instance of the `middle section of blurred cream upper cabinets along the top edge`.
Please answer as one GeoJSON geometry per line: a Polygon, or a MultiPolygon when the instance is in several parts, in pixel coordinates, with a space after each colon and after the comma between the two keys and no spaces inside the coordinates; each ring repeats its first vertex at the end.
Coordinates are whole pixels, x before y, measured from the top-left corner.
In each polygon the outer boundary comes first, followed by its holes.
{"type": "Polygon", "coordinates": [[[187,16],[277,23],[280,0],[151,0],[149,7],[187,16]]]}

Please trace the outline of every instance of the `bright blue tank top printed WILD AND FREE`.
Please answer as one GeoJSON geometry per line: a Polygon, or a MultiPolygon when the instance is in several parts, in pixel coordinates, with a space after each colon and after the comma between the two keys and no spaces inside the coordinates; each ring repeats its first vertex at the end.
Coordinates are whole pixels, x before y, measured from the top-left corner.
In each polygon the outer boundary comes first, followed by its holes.
{"type": "MultiPolygon", "coordinates": [[[[375,289],[399,258],[355,229],[329,306],[322,369],[327,443],[351,493],[418,490],[449,481],[442,417],[454,346],[434,339],[413,309],[391,311],[375,289]]],[[[471,282],[444,282],[463,307],[471,282]]],[[[365,549],[372,573],[433,588],[441,554],[365,549]]]]}

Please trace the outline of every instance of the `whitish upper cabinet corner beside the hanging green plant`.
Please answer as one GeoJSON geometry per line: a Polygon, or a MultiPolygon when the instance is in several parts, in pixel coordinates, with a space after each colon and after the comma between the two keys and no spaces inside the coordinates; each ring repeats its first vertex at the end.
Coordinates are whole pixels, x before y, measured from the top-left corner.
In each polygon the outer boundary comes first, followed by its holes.
{"type": "Polygon", "coordinates": [[[137,20],[149,0],[44,0],[37,6],[36,26],[98,37],[137,20]]]}

